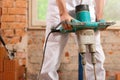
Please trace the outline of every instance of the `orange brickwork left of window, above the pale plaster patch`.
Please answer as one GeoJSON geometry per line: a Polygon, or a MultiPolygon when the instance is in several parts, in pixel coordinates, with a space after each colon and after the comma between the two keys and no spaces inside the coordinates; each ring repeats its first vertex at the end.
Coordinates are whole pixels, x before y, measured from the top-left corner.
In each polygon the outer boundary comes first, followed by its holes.
{"type": "Polygon", "coordinates": [[[2,36],[11,39],[9,44],[19,43],[27,27],[27,0],[1,0],[1,4],[1,29],[5,33],[2,36]]]}

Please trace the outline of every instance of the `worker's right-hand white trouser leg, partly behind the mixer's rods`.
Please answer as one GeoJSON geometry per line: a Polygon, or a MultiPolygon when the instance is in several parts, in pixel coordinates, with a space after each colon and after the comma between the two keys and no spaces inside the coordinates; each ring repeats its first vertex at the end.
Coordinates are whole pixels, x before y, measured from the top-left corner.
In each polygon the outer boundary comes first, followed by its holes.
{"type": "MultiPolygon", "coordinates": [[[[105,70],[103,68],[103,64],[104,64],[104,60],[105,60],[105,56],[104,56],[104,52],[102,50],[101,47],[101,43],[100,43],[100,32],[97,31],[95,33],[95,40],[96,40],[96,53],[95,53],[95,57],[96,57],[96,75],[97,75],[97,80],[105,80],[105,70]]],[[[86,64],[86,75],[87,75],[87,80],[95,80],[94,79],[94,69],[93,69],[93,65],[91,62],[91,54],[87,53],[86,54],[86,60],[87,60],[87,64],[86,64]]]]}

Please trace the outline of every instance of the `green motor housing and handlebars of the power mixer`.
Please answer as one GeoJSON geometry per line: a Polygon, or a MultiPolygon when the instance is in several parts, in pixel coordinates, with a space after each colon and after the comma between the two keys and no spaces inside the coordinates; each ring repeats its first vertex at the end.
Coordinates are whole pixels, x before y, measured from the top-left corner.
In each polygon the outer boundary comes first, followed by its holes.
{"type": "Polygon", "coordinates": [[[66,22],[68,25],[72,26],[72,30],[65,30],[63,27],[59,29],[61,33],[76,32],[83,29],[105,29],[106,27],[115,24],[114,22],[105,22],[105,20],[100,20],[98,22],[91,22],[89,10],[78,10],[76,11],[76,19],[71,22],[66,22]]]}

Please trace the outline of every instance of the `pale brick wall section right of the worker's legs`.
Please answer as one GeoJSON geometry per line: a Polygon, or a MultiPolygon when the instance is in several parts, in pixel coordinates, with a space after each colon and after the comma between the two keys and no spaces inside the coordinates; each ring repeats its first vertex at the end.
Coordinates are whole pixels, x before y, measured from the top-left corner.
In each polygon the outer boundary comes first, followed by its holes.
{"type": "Polygon", "coordinates": [[[120,75],[120,31],[119,30],[109,30],[102,31],[102,45],[105,52],[105,68],[107,72],[108,79],[110,80],[120,80],[117,79],[117,75],[120,75]]]}

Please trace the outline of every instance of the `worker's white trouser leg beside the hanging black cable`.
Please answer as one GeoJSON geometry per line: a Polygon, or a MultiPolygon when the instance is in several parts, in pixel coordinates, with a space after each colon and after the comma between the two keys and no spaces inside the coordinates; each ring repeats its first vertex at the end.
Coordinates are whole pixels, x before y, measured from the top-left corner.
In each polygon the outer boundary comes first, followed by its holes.
{"type": "MultiPolygon", "coordinates": [[[[46,33],[50,32],[50,28],[47,28],[46,33]]],[[[68,34],[52,33],[48,39],[45,58],[41,74],[42,76],[47,75],[52,80],[58,80],[57,70],[60,66],[61,53],[63,52],[64,46],[67,42],[68,34]]],[[[51,80],[50,79],[50,80],[51,80]]],[[[44,79],[43,80],[49,80],[44,79]]]]}

